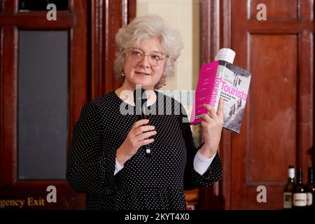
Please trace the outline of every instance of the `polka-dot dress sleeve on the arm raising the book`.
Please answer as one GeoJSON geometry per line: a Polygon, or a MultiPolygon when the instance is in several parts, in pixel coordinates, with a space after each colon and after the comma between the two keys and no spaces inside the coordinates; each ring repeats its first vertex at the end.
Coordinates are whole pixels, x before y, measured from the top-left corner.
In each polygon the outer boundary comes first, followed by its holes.
{"type": "Polygon", "coordinates": [[[193,190],[195,188],[200,188],[202,186],[209,186],[216,181],[222,179],[222,164],[218,153],[216,153],[214,160],[209,165],[208,169],[204,174],[200,175],[197,173],[193,166],[193,160],[197,151],[203,146],[201,144],[199,147],[195,146],[195,141],[193,139],[193,134],[190,129],[190,123],[186,116],[186,111],[181,106],[181,132],[183,138],[185,139],[187,160],[186,168],[184,174],[184,190],[193,190]]]}

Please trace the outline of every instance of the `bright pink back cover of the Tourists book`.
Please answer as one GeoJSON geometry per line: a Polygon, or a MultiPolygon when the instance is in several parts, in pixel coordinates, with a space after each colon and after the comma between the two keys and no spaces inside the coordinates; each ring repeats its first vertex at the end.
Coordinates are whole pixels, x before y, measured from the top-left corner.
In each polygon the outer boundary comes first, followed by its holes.
{"type": "Polygon", "coordinates": [[[216,72],[218,70],[218,62],[204,64],[200,69],[200,78],[195,92],[195,103],[193,104],[193,111],[190,116],[190,125],[197,125],[202,122],[200,115],[207,113],[207,109],[202,105],[210,103],[216,80],[216,72]]]}

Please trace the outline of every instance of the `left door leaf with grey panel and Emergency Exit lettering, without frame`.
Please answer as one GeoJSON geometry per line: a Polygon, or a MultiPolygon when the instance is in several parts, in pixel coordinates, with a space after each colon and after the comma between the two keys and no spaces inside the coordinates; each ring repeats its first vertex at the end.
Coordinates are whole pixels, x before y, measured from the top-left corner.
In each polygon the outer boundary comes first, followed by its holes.
{"type": "Polygon", "coordinates": [[[5,203],[1,202],[1,209],[84,207],[84,197],[73,193],[61,172],[66,169],[73,124],[80,106],[89,97],[87,1],[64,2],[57,1],[55,5],[57,20],[48,20],[46,5],[39,6],[34,1],[2,1],[0,198],[5,203]],[[36,104],[45,100],[50,106],[43,108],[36,104]],[[61,118],[64,123],[54,126],[55,118],[61,118]],[[42,121],[52,125],[51,128],[43,127],[42,121]],[[62,141],[50,148],[49,137],[60,137],[62,141]],[[43,152],[45,155],[41,155],[43,152]],[[62,155],[59,157],[57,153],[62,155]],[[52,173],[59,171],[47,175],[45,169],[52,173]],[[57,190],[57,202],[46,200],[52,192],[48,186],[57,190]],[[18,206],[18,200],[24,201],[23,205],[18,206]]]}

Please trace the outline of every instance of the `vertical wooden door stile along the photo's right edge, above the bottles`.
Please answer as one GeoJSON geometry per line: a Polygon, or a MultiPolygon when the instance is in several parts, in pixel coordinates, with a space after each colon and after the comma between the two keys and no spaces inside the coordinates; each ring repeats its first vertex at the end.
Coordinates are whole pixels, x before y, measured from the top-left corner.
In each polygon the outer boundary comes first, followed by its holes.
{"type": "Polygon", "coordinates": [[[304,170],[304,183],[307,183],[307,167],[314,166],[311,155],[314,147],[314,32],[314,29],[303,30],[298,34],[297,165],[304,170]]]}

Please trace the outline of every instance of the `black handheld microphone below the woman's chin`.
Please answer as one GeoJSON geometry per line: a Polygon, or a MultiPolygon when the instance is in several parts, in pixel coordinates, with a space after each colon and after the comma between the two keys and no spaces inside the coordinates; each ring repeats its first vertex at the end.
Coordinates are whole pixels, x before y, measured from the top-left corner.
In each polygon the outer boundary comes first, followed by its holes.
{"type": "MultiPolygon", "coordinates": [[[[146,90],[137,88],[134,90],[134,105],[136,106],[136,114],[139,115],[139,119],[148,119],[148,99],[146,98],[146,90]]],[[[146,155],[151,157],[151,145],[147,144],[143,146],[146,155]]]]}

